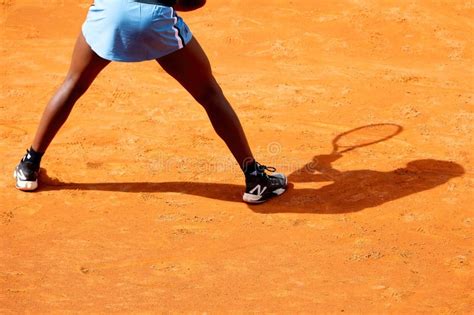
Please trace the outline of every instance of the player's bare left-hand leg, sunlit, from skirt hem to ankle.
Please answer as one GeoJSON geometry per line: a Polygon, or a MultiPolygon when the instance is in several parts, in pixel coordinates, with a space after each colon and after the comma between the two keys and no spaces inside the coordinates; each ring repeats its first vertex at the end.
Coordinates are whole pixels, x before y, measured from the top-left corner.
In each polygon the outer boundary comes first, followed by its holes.
{"type": "Polygon", "coordinates": [[[74,48],[66,79],[44,110],[32,145],[35,151],[41,153],[46,151],[76,101],[109,63],[110,61],[102,59],[91,50],[81,33],[74,48]]]}

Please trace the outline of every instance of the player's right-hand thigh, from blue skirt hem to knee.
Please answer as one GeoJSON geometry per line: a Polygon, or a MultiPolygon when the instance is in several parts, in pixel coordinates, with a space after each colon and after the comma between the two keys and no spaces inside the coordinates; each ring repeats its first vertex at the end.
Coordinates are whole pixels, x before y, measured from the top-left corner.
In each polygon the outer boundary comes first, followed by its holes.
{"type": "Polygon", "coordinates": [[[157,61],[194,97],[209,87],[217,86],[209,59],[194,37],[184,48],[157,61]]]}

